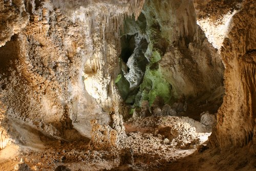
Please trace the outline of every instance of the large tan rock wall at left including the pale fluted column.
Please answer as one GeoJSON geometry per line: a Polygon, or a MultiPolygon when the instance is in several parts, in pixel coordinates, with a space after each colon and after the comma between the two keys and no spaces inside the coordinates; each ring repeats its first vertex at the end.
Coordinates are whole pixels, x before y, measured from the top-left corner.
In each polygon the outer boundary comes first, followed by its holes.
{"type": "MultiPolygon", "coordinates": [[[[105,3],[77,3],[1,1],[1,102],[6,106],[1,114],[1,137],[11,135],[26,144],[32,140],[25,134],[38,130],[57,139],[84,139],[91,137],[90,120],[110,121],[102,109],[115,108],[111,103],[115,93],[110,88],[118,66],[121,15],[137,16],[143,1],[115,3],[112,14],[105,16],[109,9],[105,3]],[[118,8],[119,13],[114,13],[118,8]],[[102,102],[84,89],[82,80],[83,71],[88,74],[92,68],[86,61],[93,58],[100,66],[96,71],[100,89],[86,86],[94,93],[103,92],[102,102]],[[25,133],[22,125],[30,131],[25,133]]],[[[92,77],[89,74],[86,79],[92,77]]],[[[2,138],[1,144],[6,141],[2,138]]]]}

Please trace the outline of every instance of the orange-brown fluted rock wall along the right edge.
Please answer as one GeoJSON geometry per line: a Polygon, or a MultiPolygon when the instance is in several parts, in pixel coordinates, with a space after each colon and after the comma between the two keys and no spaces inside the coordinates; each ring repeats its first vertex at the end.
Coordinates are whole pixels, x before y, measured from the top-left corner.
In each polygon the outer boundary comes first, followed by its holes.
{"type": "Polygon", "coordinates": [[[255,3],[242,6],[232,17],[221,48],[226,95],[211,142],[223,149],[249,144],[255,154],[255,3]]]}

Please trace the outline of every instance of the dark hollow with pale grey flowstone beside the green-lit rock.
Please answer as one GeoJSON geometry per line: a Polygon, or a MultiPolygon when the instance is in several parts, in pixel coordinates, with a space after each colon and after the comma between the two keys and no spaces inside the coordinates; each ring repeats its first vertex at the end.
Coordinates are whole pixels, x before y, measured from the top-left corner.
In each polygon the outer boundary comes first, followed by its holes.
{"type": "Polygon", "coordinates": [[[125,103],[133,105],[148,63],[145,57],[148,42],[140,33],[123,35],[120,40],[121,73],[116,84],[125,103]]]}

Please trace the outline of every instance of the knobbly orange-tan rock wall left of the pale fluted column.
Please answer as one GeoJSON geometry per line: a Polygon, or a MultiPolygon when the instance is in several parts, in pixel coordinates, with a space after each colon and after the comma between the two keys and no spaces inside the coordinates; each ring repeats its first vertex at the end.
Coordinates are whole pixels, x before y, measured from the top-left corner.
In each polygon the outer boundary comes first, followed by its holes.
{"type": "Polygon", "coordinates": [[[101,109],[95,102],[84,105],[93,99],[83,91],[79,72],[86,60],[82,27],[46,6],[42,3],[42,8],[28,11],[29,24],[0,50],[1,100],[8,106],[9,120],[56,138],[76,139],[80,135],[72,121],[85,111],[100,113],[101,109]]]}

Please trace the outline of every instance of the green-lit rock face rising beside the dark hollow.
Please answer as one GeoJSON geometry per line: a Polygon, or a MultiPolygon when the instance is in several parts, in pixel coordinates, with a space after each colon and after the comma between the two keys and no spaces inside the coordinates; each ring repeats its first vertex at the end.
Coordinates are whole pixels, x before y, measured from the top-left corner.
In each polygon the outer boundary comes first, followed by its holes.
{"type": "MultiPolygon", "coordinates": [[[[163,9],[165,6],[169,7],[168,1],[163,0],[161,3],[157,0],[146,1],[137,22],[134,16],[126,18],[124,21],[121,36],[135,33],[146,35],[148,47],[144,55],[150,61],[146,66],[143,81],[139,86],[139,92],[134,95],[123,91],[126,94],[125,102],[130,104],[134,102],[133,108],[141,106],[143,100],[147,100],[152,105],[157,96],[162,97],[165,103],[171,101],[172,98],[172,82],[168,78],[170,75],[164,73],[158,64],[170,44],[169,40],[172,40],[172,22],[169,22],[169,20],[175,19],[169,16],[169,13],[172,11],[163,13],[160,10],[156,10],[163,9]]],[[[168,9],[171,10],[172,8],[168,9]]],[[[119,75],[116,79],[116,84],[120,83],[120,91],[123,89],[121,82],[124,80],[123,75],[121,77],[119,75]]]]}

